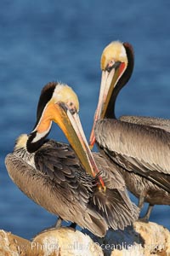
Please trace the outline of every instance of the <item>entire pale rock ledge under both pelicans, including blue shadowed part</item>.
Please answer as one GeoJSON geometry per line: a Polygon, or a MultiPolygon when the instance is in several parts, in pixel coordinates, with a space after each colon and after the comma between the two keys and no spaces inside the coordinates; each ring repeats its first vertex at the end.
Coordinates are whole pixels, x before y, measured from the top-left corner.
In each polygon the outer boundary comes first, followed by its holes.
{"type": "Polygon", "coordinates": [[[28,241],[0,230],[0,256],[170,256],[170,232],[156,223],[135,222],[124,231],[109,230],[104,238],[88,235],[60,228],[28,241]]]}

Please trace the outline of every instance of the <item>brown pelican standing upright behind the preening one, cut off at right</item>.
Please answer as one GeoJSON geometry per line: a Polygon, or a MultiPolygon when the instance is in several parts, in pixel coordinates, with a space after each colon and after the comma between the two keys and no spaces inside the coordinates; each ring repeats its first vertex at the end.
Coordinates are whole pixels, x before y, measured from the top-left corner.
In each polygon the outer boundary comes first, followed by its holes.
{"type": "Polygon", "coordinates": [[[133,195],[150,205],[170,205],[170,121],[146,117],[116,119],[115,102],[133,73],[133,48],[113,42],[101,56],[102,78],[90,144],[121,166],[122,176],[133,195]]]}

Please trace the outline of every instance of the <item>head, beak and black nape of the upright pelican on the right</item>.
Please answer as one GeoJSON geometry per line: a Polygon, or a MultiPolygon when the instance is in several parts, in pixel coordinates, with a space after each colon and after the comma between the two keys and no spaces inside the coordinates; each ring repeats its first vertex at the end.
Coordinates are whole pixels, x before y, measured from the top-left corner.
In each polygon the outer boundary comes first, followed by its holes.
{"type": "MultiPolygon", "coordinates": [[[[111,107],[114,108],[116,96],[133,72],[132,46],[119,41],[112,42],[105,47],[100,64],[102,77],[98,107],[94,115],[94,126],[98,119],[111,118],[111,114],[114,112],[111,107]],[[129,58],[132,59],[130,63],[129,58]]],[[[94,126],[90,136],[91,148],[95,143],[94,126]]]]}

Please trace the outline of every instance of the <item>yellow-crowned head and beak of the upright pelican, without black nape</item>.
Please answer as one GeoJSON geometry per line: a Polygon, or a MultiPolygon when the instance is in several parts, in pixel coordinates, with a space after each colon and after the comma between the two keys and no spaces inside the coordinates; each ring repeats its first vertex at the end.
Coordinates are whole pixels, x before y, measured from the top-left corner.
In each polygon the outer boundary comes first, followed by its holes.
{"type": "Polygon", "coordinates": [[[101,55],[100,64],[102,77],[98,107],[94,115],[94,125],[89,140],[90,148],[93,148],[95,143],[94,127],[96,122],[99,119],[108,118],[107,110],[110,109],[111,101],[114,100],[113,91],[117,88],[116,84],[127,68],[127,53],[124,44],[118,41],[108,44],[101,55]]]}

